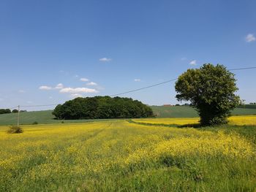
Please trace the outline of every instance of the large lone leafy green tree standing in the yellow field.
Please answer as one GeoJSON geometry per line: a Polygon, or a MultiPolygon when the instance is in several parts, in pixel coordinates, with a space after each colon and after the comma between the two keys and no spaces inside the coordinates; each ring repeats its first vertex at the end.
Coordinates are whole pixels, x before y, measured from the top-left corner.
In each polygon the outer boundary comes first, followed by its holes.
{"type": "Polygon", "coordinates": [[[178,101],[190,101],[200,115],[202,126],[227,123],[227,117],[239,103],[235,75],[225,66],[204,64],[188,69],[176,81],[178,101]]]}

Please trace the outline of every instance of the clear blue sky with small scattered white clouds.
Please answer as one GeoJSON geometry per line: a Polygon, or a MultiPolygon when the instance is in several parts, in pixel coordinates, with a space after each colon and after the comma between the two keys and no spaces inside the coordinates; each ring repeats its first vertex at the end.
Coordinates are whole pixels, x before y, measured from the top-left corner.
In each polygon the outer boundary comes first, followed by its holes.
{"type": "MultiPolygon", "coordinates": [[[[256,66],[255,7],[256,1],[2,0],[0,108],[112,95],[205,63],[256,66]]],[[[256,101],[255,69],[235,73],[241,99],[256,101]]],[[[174,82],[123,96],[177,103],[174,82]]]]}

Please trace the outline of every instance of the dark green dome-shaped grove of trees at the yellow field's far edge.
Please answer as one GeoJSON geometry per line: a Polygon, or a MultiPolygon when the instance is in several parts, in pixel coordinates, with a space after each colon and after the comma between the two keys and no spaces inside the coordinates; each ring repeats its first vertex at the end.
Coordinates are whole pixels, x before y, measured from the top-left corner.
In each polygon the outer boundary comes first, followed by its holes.
{"type": "Polygon", "coordinates": [[[58,119],[105,119],[152,117],[150,107],[138,100],[110,96],[76,98],[59,104],[53,110],[58,119]]]}

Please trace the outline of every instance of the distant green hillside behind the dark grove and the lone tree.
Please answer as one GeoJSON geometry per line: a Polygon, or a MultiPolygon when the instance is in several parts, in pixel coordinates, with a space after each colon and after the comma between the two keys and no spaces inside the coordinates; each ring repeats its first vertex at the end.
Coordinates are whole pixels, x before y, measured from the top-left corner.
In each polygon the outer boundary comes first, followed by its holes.
{"type": "MultiPolygon", "coordinates": [[[[194,108],[189,106],[173,106],[151,107],[157,118],[193,118],[198,117],[194,108]]],[[[44,123],[61,123],[62,120],[55,120],[51,114],[52,110],[36,111],[36,112],[20,112],[20,124],[32,124],[35,121],[39,124],[44,123]]],[[[236,108],[233,115],[256,115],[256,109],[249,108],[236,108]]],[[[17,123],[17,113],[2,114],[0,115],[0,125],[15,125],[17,123]]],[[[82,123],[95,120],[63,120],[64,123],[82,123]]]]}

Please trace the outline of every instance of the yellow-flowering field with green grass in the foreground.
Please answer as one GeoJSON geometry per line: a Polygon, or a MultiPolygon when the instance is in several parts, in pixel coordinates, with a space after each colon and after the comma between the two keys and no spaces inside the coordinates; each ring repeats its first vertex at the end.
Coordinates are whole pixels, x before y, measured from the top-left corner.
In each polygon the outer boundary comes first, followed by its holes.
{"type": "Polygon", "coordinates": [[[255,119],[219,128],[108,120],[23,126],[23,134],[0,126],[0,191],[255,191],[255,119]]]}

